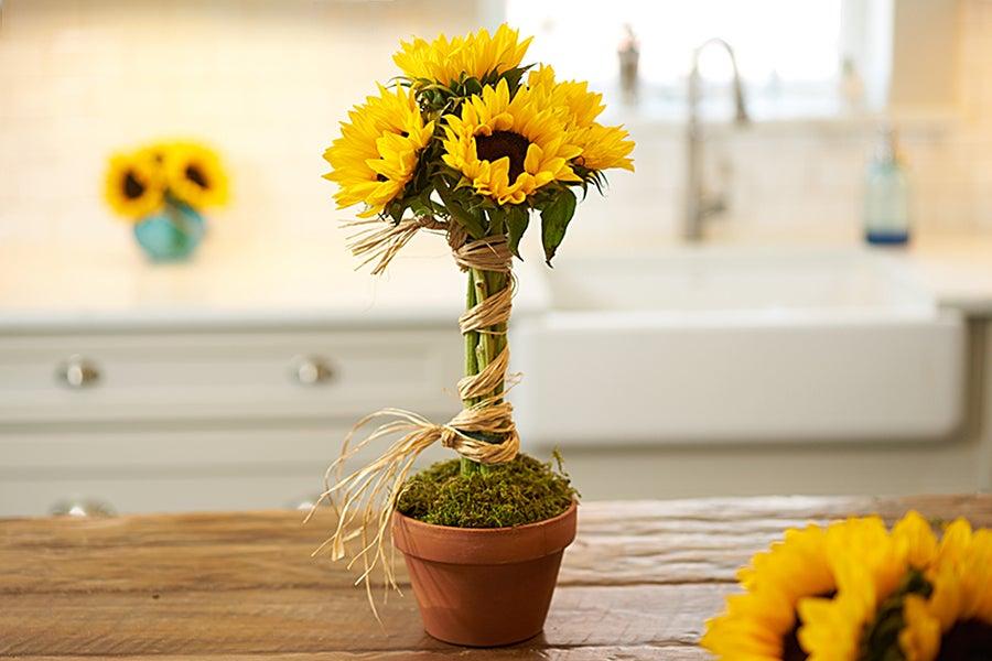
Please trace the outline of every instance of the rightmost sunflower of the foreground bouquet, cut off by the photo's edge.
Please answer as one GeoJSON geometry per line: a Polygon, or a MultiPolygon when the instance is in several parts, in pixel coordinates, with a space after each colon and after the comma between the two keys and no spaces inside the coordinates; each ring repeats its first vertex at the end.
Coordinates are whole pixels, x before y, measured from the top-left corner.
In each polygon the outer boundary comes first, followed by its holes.
{"type": "Polygon", "coordinates": [[[992,659],[992,531],[951,523],[927,579],[929,597],[909,595],[903,606],[906,661],[992,659]]]}

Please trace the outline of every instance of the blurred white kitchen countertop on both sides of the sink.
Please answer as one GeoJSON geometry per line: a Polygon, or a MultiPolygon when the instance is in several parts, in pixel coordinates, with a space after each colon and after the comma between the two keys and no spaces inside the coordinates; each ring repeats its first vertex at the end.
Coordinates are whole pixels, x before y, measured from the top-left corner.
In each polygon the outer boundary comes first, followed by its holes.
{"type": "MultiPolygon", "coordinates": [[[[0,330],[455,324],[464,275],[441,242],[408,248],[376,278],[368,268],[356,270],[339,245],[205,245],[192,262],[151,264],[134,246],[4,243],[0,330]]],[[[671,250],[680,248],[656,252],[671,250]]],[[[992,235],[923,238],[908,249],[884,250],[905,259],[940,305],[992,316],[992,235]]],[[[515,314],[548,304],[539,261],[517,267],[524,285],[515,314]]]]}

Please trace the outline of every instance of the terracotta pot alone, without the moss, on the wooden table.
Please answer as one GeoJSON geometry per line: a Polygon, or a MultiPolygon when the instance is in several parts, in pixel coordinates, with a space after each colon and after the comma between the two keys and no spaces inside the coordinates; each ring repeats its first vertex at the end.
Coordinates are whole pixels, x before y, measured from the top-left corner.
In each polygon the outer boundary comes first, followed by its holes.
{"type": "Polygon", "coordinates": [[[572,506],[516,528],[448,528],[396,512],[403,553],[428,633],[454,644],[495,647],[540,633],[558,567],[575,539],[572,506]]]}

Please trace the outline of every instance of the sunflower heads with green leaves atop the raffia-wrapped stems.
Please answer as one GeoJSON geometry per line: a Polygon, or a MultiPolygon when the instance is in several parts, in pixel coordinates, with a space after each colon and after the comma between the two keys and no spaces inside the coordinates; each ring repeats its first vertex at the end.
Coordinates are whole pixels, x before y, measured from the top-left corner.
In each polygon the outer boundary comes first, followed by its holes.
{"type": "Polygon", "coordinates": [[[514,253],[538,214],[550,262],[575,191],[602,193],[604,171],[633,171],[634,142],[597,122],[602,95],[585,83],[522,65],[529,44],[507,25],[402,43],[397,83],[355,106],[324,152],[338,207],[392,224],[455,223],[473,239],[506,236],[514,253]]]}

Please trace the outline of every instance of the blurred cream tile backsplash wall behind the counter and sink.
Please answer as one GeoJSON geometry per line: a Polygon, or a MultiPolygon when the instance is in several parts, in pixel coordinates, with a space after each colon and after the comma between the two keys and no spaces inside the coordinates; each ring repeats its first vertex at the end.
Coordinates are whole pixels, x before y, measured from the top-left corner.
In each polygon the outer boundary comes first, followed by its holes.
{"type": "MultiPolygon", "coordinates": [[[[410,34],[475,28],[488,0],[7,0],[0,23],[0,240],[128,241],[100,199],[108,153],[191,137],[224,155],[234,204],[216,239],[341,241],[321,158],[347,108],[393,73],[410,34]]],[[[992,231],[992,1],[963,0],[960,112],[902,130],[914,217],[932,231],[992,231]]],[[[637,174],[613,177],[570,232],[671,237],[681,128],[632,122],[637,174]],[[621,231],[618,231],[621,230],[621,231]]],[[[730,182],[721,235],[854,236],[876,127],[856,120],[720,128],[730,182]]]]}

